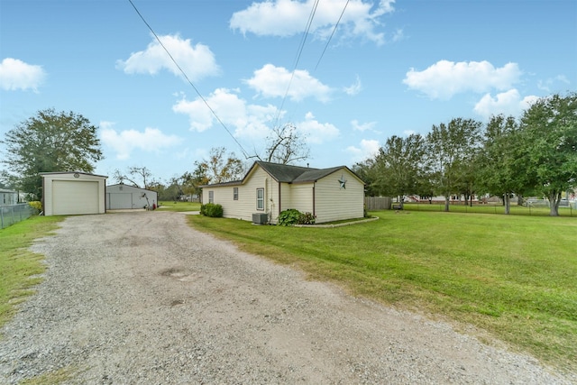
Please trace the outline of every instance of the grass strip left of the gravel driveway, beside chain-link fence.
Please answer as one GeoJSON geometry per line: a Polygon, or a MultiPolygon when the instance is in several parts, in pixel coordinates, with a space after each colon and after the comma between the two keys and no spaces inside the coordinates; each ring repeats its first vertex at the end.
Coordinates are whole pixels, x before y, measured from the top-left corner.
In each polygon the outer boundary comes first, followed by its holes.
{"type": "Polygon", "coordinates": [[[61,216],[32,216],[0,230],[0,327],[14,316],[16,305],[33,293],[45,267],[43,256],[28,251],[35,238],[50,234],[61,216]]]}

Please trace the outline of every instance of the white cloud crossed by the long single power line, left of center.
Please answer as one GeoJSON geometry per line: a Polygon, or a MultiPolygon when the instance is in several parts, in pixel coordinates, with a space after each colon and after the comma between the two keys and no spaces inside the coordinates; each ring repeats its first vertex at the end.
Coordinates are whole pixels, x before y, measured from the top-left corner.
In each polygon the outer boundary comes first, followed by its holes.
{"type": "MultiPolygon", "coordinates": [[[[276,118],[277,108],[273,105],[249,105],[233,91],[218,88],[206,97],[223,124],[231,130],[235,137],[264,138],[269,133],[269,124],[276,118]]],[[[206,131],[213,124],[219,124],[210,109],[202,99],[188,101],[182,97],[172,106],[175,113],[188,115],[190,130],[199,133],[206,131]]]]}

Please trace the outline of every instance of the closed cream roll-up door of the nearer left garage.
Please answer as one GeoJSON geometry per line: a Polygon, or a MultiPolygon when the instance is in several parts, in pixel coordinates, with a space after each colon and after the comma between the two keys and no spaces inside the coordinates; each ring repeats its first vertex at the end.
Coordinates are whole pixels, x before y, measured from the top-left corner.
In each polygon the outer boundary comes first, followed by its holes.
{"type": "Polygon", "coordinates": [[[54,180],[52,182],[54,215],[98,214],[98,182],[54,180]]]}

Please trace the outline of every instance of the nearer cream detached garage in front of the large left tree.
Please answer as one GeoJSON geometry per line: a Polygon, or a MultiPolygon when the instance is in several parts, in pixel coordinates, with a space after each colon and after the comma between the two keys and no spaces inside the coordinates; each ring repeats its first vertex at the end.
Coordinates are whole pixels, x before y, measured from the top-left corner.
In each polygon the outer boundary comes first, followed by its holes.
{"type": "Polygon", "coordinates": [[[104,214],[106,178],[85,172],[41,172],[44,215],[104,214]]]}

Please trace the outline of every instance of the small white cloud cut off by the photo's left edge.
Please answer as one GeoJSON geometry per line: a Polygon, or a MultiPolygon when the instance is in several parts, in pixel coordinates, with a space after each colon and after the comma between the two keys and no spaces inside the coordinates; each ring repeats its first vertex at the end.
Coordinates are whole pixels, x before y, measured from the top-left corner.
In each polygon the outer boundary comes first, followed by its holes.
{"type": "Polygon", "coordinates": [[[0,63],[0,88],[7,91],[32,89],[37,92],[44,78],[46,72],[41,66],[13,58],[5,58],[0,63]]]}

